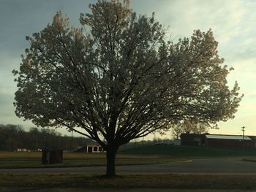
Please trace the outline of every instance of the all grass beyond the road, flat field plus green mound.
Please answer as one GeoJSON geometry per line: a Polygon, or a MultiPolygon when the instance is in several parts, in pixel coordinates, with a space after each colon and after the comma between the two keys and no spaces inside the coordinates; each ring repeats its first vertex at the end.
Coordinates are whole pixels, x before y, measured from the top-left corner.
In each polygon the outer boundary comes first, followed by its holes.
{"type": "MultiPolygon", "coordinates": [[[[104,166],[105,153],[64,153],[63,164],[41,165],[41,152],[0,152],[0,169],[25,167],[104,166]]],[[[255,151],[220,150],[206,147],[151,145],[119,151],[116,165],[165,164],[189,158],[256,158],[255,151]]]]}

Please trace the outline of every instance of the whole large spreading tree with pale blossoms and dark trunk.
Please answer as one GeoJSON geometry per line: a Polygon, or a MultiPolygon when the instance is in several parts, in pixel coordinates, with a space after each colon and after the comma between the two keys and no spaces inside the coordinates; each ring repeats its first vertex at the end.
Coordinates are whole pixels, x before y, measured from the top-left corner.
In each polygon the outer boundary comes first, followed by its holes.
{"type": "Polygon", "coordinates": [[[16,115],[37,126],[64,126],[107,151],[116,174],[118,147],[179,120],[206,123],[233,118],[241,96],[227,87],[211,30],[165,42],[165,30],[137,15],[128,1],[99,0],[69,27],[61,12],[33,37],[22,55],[16,115]],[[78,130],[83,128],[84,131],[78,130]]]}

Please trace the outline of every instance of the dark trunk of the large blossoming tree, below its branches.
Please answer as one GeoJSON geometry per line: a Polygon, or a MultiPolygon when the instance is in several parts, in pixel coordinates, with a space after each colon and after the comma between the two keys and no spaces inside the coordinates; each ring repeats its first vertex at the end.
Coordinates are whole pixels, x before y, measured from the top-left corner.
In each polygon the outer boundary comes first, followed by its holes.
{"type": "Polygon", "coordinates": [[[116,161],[116,153],[117,153],[118,147],[116,146],[108,146],[107,148],[107,177],[113,177],[116,176],[116,167],[115,167],[115,161],[116,161]]]}

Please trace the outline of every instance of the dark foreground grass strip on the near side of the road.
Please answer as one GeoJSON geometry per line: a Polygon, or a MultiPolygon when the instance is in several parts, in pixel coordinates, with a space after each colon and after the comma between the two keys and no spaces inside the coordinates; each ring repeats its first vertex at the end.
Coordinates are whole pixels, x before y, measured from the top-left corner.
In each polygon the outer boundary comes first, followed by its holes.
{"type": "Polygon", "coordinates": [[[107,179],[91,174],[0,174],[0,186],[83,188],[255,189],[256,175],[125,174],[107,179]]]}

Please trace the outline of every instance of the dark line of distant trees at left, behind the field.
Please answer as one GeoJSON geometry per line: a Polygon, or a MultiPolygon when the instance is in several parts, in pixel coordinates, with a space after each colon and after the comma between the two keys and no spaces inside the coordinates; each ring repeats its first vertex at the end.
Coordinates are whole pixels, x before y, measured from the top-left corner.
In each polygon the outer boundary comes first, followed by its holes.
{"type": "Polygon", "coordinates": [[[27,150],[60,149],[75,150],[78,147],[95,144],[91,139],[84,137],[62,136],[52,128],[32,127],[25,131],[19,125],[0,124],[0,150],[27,150]]]}

